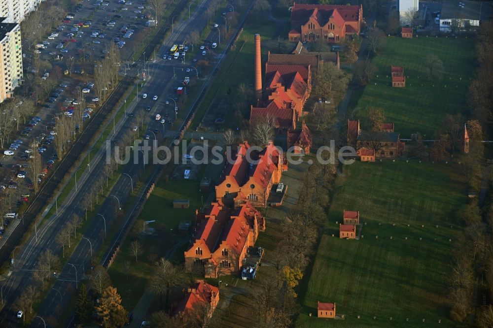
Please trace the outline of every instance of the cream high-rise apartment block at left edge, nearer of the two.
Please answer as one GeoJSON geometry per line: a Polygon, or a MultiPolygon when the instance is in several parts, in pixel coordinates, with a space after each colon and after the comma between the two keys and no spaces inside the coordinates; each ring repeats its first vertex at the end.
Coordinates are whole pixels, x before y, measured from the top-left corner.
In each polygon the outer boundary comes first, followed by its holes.
{"type": "Polygon", "coordinates": [[[10,98],[22,83],[21,29],[0,17],[0,102],[10,98]]]}

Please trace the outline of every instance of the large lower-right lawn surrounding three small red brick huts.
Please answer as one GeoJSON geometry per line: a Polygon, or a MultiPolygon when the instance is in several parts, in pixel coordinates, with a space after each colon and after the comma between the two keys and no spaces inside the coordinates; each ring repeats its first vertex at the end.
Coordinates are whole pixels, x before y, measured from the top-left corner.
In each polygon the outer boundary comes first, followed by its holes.
{"type": "Polygon", "coordinates": [[[446,280],[466,191],[454,171],[404,161],[347,165],[299,288],[303,309],[296,327],[416,327],[423,319],[428,326],[438,320],[440,327],[456,326],[448,320],[446,280]],[[344,209],[359,210],[367,224],[360,240],[338,238],[344,209]],[[335,302],[346,319],[317,319],[317,301],[335,302]]]}

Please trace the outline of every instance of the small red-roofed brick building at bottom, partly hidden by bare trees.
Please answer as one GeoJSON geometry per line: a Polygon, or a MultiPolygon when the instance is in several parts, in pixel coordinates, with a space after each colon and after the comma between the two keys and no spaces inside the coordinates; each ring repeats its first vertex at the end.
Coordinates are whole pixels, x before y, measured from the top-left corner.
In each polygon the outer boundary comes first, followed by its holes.
{"type": "Polygon", "coordinates": [[[189,287],[187,293],[179,301],[175,309],[178,316],[196,315],[212,316],[217,303],[219,302],[219,289],[204,280],[197,280],[197,283],[189,287]]]}

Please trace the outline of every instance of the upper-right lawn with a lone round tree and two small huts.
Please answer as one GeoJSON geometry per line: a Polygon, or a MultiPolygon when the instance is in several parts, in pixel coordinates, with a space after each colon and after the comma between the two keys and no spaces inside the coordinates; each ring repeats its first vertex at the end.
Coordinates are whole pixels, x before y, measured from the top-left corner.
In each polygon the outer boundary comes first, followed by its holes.
{"type": "MultiPolygon", "coordinates": [[[[472,39],[387,37],[386,50],[373,60],[378,73],[366,86],[357,104],[352,101],[352,105],[362,109],[367,106],[382,108],[387,122],[395,123],[395,131],[400,132],[403,138],[416,132],[431,137],[445,114],[465,114],[473,60],[472,39]],[[429,53],[437,55],[443,62],[445,74],[441,81],[425,78],[423,63],[429,53]],[[392,65],[404,66],[405,88],[390,86],[392,65]]],[[[358,116],[362,119],[367,112],[360,110],[358,116]]]]}

